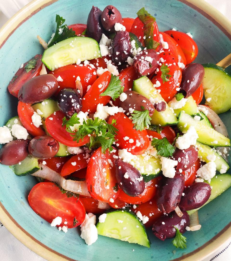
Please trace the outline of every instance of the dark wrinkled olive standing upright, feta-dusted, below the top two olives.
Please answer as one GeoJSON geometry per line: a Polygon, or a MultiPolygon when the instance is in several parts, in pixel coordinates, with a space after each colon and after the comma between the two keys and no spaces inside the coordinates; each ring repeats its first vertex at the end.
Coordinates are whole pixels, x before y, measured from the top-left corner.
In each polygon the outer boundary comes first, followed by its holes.
{"type": "Polygon", "coordinates": [[[131,41],[127,31],[119,31],[111,41],[111,56],[112,60],[117,64],[123,64],[127,61],[131,54],[131,41]]]}

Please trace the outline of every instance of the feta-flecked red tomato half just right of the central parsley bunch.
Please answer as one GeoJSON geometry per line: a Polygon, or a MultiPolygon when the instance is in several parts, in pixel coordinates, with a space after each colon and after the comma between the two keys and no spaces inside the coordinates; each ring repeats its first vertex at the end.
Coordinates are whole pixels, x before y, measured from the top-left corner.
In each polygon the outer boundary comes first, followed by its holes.
{"type": "Polygon", "coordinates": [[[118,112],[114,116],[110,116],[108,123],[111,124],[112,120],[116,120],[115,127],[119,130],[115,135],[116,143],[119,144],[120,149],[127,149],[133,155],[140,155],[147,150],[149,146],[149,138],[147,131],[137,131],[134,129],[134,124],[122,112],[118,112]],[[137,141],[140,146],[136,146],[137,141]]]}

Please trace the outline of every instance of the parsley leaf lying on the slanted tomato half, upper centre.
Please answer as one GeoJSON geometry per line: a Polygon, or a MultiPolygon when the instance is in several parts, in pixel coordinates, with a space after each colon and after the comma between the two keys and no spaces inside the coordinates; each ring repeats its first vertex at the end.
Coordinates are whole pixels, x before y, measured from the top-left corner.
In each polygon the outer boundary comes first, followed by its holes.
{"type": "Polygon", "coordinates": [[[119,76],[111,74],[111,80],[109,82],[106,90],[100,94],[100,96],[110,96],[112,100],[119,98],[120,94],[123,92],[123,86],[121,85],[121,80],[119,76]]]}

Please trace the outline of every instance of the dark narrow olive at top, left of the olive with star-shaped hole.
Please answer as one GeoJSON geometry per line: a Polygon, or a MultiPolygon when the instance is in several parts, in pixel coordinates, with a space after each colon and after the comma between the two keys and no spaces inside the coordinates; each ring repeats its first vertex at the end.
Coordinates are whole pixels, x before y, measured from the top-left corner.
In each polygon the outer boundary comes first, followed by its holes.
{"type": "Polygon", "coordinates": [[[102,34],[105,32],[101,24],[101,15],[102,11],[98,7],[92,6],[87,17],[87,35],[97,42],[100,41],[102,34]]]}

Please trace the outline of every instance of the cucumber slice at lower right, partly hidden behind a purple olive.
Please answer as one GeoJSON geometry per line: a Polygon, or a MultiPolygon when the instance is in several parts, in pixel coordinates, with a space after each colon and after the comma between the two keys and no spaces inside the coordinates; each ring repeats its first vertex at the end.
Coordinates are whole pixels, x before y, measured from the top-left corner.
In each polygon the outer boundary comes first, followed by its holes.
{"type": "MultiPolygon", "coordinates": [[[[208,183],[207,181],[205,181],[205,182],[208,183]]],[[[226,189],[231,187],[231,175],[230,174],[216,175],[211,179],[211,182],[209,184],[212,187],[211,196],[210,196],[209,200],[203,206],[208,204],[210,201],[212,201],[216,197],[220,196],[221,193],[223,193],[224,191],[226,191],[226,189]]],[[[199,207],[198,209],[202,208],[203,206],[199,207]]],[[[188,215],[192,215],[192,213],[194,213],[198,209],[192,209],[192,210],[187,211],[188,215]]]]}

